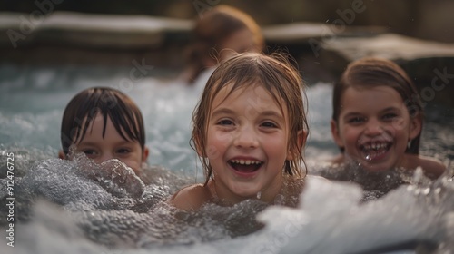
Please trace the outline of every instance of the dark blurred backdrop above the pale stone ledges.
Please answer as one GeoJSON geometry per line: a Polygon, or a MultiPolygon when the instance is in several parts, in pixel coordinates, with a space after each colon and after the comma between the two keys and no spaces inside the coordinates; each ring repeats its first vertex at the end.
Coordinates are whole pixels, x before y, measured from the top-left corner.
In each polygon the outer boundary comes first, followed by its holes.
{"type": "MultiPolygon", "coordinates": [[[[35,2],[52,0],[2,0],[0,11],[31,13],[35,2]]],[[[197,8],[232,5],[261,25],[293,22],[330,23],[337,11],[351,7],[353,0],[54,0],[54,11],[90,14],[153,15],[192,19],[197,8]]],[[[353,25],[382,25],[390,32],[439,42],[454,43],[452,0],[363,0],[367,10],[355,16],[353,25]]]]}

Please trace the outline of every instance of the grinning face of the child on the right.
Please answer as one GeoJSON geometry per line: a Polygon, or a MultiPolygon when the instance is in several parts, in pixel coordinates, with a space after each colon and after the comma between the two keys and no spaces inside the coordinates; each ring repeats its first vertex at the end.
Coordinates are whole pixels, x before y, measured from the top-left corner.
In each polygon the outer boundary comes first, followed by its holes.
{"type": "Polygon", "coordinates": [[[348,87],[341,97],[338,122],[331,132],[344,156],[368,171],[406,167],[407,143],[421,131],[419,117],[410,117],[400,94],[382,85],[348,87]]]}

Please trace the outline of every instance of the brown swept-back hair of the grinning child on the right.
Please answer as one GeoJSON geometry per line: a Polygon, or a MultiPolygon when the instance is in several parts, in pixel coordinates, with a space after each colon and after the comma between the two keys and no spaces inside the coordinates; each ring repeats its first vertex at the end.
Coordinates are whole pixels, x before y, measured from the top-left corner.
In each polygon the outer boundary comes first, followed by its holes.
{"type": "MultiPolygon", "coordinates": [[[[410,117],[423,117],[422,103],[409,75],[398,64],[390,60],[365,57],[350,63],[342,73],[341,79],[334,84],[332,120],[339,121],[342,94],[348,87],[368,89],[376,86],[388,86],[396,90],[405,103],[410,117]]],[[[418,154],[419,140],[420,132],[416,138],[410,141],[410,146],[405,152],[418,154]]],[[[340,147],[340,149],[343,152],[343,148],[340,147]]]]}

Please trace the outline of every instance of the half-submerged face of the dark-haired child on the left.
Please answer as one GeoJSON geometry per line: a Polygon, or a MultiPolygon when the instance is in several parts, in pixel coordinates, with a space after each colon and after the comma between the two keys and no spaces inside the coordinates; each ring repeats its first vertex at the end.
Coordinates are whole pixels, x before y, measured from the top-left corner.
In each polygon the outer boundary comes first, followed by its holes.
{"type": "Polygon", "coordinates": [[[124,140],[115,130],[110,117],[107,117],[104,138],[103,128],[103,116],[98,113],[88,126],[84,139],[76,144],[75,151],[84,152],[95,163],[118,159],[139,174],[142,162],[148,157],[148,148],[145,147],[142,151],[139,142],[124,140]]]}

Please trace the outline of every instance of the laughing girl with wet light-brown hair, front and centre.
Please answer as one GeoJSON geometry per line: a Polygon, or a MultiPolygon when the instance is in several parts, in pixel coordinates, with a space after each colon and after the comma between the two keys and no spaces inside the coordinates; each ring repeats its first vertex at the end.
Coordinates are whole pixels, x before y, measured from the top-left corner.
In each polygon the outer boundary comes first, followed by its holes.
{"type": "Polygon", "coordinates": [[[303,83],[281,56],[238,54],[212,73],[192,115],[203,184],[176,192],[178,209],[246,199],[296,206],[308,124],[303,83]]]}

